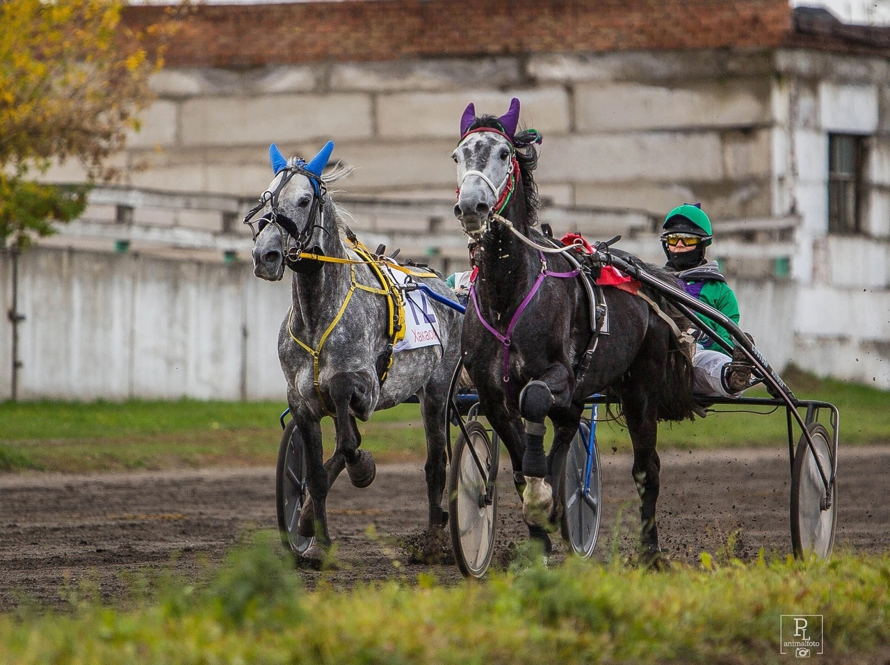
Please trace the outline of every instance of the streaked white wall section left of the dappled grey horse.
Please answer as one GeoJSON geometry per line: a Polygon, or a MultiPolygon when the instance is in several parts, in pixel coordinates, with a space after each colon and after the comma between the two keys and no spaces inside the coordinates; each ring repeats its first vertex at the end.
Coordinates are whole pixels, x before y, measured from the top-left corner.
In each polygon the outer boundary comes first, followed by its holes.
{"type": "MultiPolygon", "coordinates": [[[[3,312],[11,264],[0,253],[3,312]]],[[[283,401],[288,287],[248,264],[32,249],[19,266],[19,398],[283,401]]],[[[0,326],[0,400],[11,394],[11,345],[12,327],[0,326]]]]}

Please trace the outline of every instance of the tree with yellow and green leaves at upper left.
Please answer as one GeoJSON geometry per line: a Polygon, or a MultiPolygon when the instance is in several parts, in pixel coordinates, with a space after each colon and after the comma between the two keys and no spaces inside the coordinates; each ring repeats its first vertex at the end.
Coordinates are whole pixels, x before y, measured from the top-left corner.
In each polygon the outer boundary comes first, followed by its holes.
{"type": "Polygon", "coordinates": [[[0,0],[0,247],[25,247],[79,215],[89,184],[153,99],[165,28],[122,28],[121,0],[0,0]],[[87,183],[34,182],[77,159],[87,183]]]}

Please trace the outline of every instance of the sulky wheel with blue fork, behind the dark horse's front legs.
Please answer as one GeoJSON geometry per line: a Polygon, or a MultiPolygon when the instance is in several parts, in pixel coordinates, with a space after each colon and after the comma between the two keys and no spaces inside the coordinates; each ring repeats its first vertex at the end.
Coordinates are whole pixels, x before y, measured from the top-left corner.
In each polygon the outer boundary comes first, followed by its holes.
{"type": "Polygon", "coordinates": [[[578,556],[592,556],[596,539],[600,532],[600,499],[602,483],[600,479],[600,456],[596,441],[590,443],[589,478],[587,476],[587,443],[590,428],[586,423],[578,426],[565,456],[564,470],[560,476],[562,496],[562,539],[568,542],[578,556]]]}

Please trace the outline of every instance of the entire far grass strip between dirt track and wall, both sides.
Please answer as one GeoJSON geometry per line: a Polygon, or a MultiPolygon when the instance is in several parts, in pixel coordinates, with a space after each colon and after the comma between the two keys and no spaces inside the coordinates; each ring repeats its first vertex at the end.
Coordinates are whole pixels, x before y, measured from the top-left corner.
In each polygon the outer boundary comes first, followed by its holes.
{"type": "MultiPolygon", "coordinates": [[[[842,445],[890,442],[886,408],[890,393],[820,380],[794,369],[787,370],[784,378],[798,397],[837,405],[842,445]]],[[[0,403],[0,473],[272,465],[281,436],[278,418],[285,408],[284,402],[195,400],[4,402],[0,403]]],[[[604,415],[601,409],[601,418],[604,415]]],[[[416,404],[380,411],[368,423],[360,423],[360,431],[362,446],[378,461],[425,458],[416,404]]],[[[327,450],[332,450],[334,427],[329,418],[323,433],[327,450]]],[[[600,423],[597,438],[602,450],[630,450],[627,430],[617,424],[600,423]]],[[[784,450],[786,441],[784,410],[772,415],[712,413],[693,423],[659,427],[662,450],[748,446],[784,450]]]]}

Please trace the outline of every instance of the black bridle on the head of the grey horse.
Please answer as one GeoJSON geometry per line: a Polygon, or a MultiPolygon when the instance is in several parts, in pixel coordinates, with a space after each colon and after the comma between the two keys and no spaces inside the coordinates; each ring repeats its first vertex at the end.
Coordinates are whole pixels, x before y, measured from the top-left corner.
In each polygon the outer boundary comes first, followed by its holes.
{"type": "MultiPolygon", "coordinates": [[[[250,227],[250,231],[254,236],[254,244],[256,244],[256,239],[260,233],[263,232],[263,229],[269,224],[273,224],[279,230],[281,237],[281,255],[285,257],[287,265],[290,266],[292,270],[294,269],[295,263],[299,261],[301,255],[304,254],[303,249],[309,247],[310,240],[312,239],[312,232],[315,231],[315,229],[321,229],[321,231],[325,233],[328,232],[324,227],[325,203],[327,201],[328,189],[320,176],[307,170],[305,164],[306,163],[300,159],[295,165],[285,166],[281,169],[281,171],[285,173],[281,176],[281,180],[275,189],[263,191],[263,194],[260,196],[260,202],[247,212],[247,215],[244,216],[244,219],[241,222],[250,227]],[[309,215],[306,215],[306,222],[303,224],[302,229],[297,228],[296,223],[290,217],[282,215],[279,212],[279,196],[281,190],[283,190],[287,182],[290,182],[291,178],[297,174],[305,176],[309,182],[312,183],[312,207],[309,209],[309,215]],[[251,220],[267,204],[270,206],[270,210],[257,220],[255,229],[254,223],[251,220]],[[318,217],[318,222],[316,222],[316,217],[318,217]],[[290,236],[290,238],[294,240],[294,243],[290,247],[286,247],[287,236],[290,236]]],[[[279,171],[279,173],[281,173],[281,171],[279,171]]]]}

